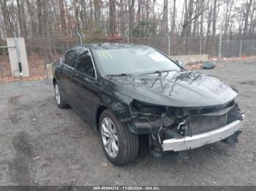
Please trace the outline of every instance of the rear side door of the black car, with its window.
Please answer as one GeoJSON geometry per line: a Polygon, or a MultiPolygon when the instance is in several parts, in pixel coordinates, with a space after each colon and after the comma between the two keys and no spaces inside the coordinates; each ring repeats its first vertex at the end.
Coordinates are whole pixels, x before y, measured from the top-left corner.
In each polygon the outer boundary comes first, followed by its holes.
{"type": "Polygon", "coordinates": [[[71,50],[68,50],[64,54],[64,58],[62,58],[63,67],[61,71],[61,76],[62,76],[61,88],[62,88],[62,92],[64,93],[65,99],[69,102],[69,104],[72,104],[72,96],[73,96],[70,81],[74,73],[75,63],[78,59],[79,51],[80,50],[78,48],[73,48],[71,50]]]}

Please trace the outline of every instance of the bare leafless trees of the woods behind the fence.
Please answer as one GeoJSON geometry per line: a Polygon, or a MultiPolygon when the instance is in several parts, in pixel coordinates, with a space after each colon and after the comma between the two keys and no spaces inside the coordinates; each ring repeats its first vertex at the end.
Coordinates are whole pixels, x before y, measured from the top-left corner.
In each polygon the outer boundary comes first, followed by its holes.
{"type": "Polygon", "coordinates": [[[256,0],[159,2],[0,0],[0,42],[7,37],[24,36],[33,42],[34,51],[43,52],[46,60],[50,61],[60,47],[63,52],[65,44],[69,47],[78,43],[78,32],[86,42],[101,41],[108,35],[129,34],[131,42],[132,35],[143,36],[146,38],[137,38],[138,43],[157,44],[159,47],[166,45],[166,39],[154,39],[152,36],[164,38],[170,32],[171,46],[181,46],[181,49],[189,51],[196,49],[193,45],[198,46],[198,36],[201,36],[203,50],[208,53],[214,50],[214,39],[219,34],[229,39],[255,37],[256,0]],[[179,10],[178,3],[183,3],[182,10],[179,10]]]}

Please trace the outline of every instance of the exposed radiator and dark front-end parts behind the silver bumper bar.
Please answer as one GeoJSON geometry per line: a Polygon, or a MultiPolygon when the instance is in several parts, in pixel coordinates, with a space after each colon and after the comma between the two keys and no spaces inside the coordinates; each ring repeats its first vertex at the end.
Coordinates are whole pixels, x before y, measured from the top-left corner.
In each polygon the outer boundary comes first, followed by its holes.
{"type": "MultiPolygon", "coordinates": [[[[163,152],[162,144],[165,140],[206,133],[243,118],[234,101],[225,106],[197,109],[177,109],[132,101],[129,109],[134,116],[134,126],[140,130],[150,130],[145,132],[149,133],[151,153],[157,157],[163,152]]],[[[227,142],[236,141],[236,134],[230,136],[227,142]]]]}

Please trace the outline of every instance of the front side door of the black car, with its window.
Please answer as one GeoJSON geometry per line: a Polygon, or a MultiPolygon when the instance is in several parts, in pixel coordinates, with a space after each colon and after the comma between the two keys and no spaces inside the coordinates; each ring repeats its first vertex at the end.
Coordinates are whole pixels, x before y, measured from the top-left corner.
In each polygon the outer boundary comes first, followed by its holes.
{"type": "Polygon", "coordinates": [[[75,66],[72,79],[75,88],[76,108],[89,122],[92,120],[94,107],[98,104],[99,85],[94,61],[89,50],[82,48],[75,66]]]}

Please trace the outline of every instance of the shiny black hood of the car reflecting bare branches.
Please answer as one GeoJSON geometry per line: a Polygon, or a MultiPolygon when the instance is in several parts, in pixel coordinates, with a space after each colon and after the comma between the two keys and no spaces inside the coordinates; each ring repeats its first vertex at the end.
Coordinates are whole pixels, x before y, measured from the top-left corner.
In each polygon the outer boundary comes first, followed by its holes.
{"type": "Polygon", "coordinates": [[[138,77],[108,77],[108,88],[148,104],[176,107],[219,106],[237,93],[219,79],[194,71],[170,71],[138,77]]]}

